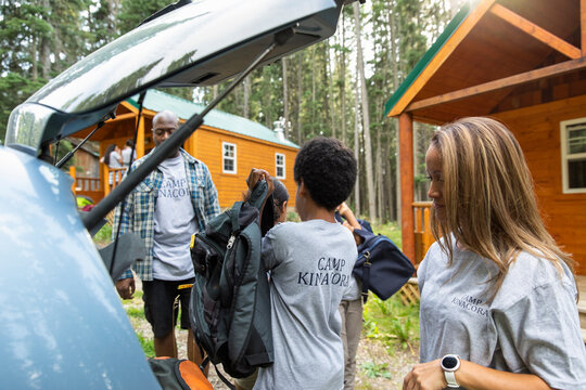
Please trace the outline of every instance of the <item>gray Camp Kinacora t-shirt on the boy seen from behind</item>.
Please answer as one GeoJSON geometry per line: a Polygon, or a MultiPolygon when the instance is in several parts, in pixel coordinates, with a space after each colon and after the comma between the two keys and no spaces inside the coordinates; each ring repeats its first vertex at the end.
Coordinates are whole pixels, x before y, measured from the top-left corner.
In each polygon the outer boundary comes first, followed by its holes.
{"type": "Polygon", "coordinates": [[[352,233],[339,223],[285,222],[267,233],[275,364],[260,368],[254,389],[344,387],[337,306],[356,256],[352,233]]]}

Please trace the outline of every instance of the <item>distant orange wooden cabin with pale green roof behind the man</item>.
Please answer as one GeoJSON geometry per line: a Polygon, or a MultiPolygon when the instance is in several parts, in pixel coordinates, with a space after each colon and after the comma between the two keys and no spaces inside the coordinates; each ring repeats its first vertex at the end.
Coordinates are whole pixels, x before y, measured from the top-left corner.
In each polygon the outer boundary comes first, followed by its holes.
{"type": "MultiPolygon", "coordinates": [[[[116,118],[107,120],[104,127],[90,138],[100,143],[100,155],[104,154],[110,144],[115,143],[123,148],[125,142],[135,136],[139,113],[137,100],[138,96],[133,96],[122,102],[116,109],[116,118]]],[[[154,147],[152,120],[156,113],[169,109],[183,122],[203,108],[202,104],[150,90],[144,98],[142,119],[138,123],[137,158],[144,156],[154,147]]],[[[76,135],[85,138],[91,130],[86,129],[76,135]]],[[[289,206],[295,205],[293,164],[298,146],[284,139],[280,131],[270,130],[237,115],[213,109],[205,116],[204,125],[186,141],[183,148],[209,168],[221,208],[242,199],[242,193],[246,188],[245,180],[253,167],[264,168],[281,180],[291,195],[289,206]]],[[[74,184],[76,193],[88,196],[95,203],[111,190],[107,185],[109,168],[104,164],[101,166],[99,177],[73,172],[76,177],[74,184]]]]}

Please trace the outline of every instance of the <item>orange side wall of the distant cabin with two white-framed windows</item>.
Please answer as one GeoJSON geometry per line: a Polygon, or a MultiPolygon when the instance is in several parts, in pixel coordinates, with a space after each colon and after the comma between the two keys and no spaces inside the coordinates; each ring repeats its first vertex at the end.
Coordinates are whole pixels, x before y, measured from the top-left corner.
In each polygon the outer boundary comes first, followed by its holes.
{"type": "Polygon", "coordinates": [[[190,153],[209,168],[212,179],[218,190],[221,208],[230,207],[234,202],[242,200],[242,193],[246,190],[246,178],[251,168],[263,168],[271,176],[276,176],[276,153],[285,156],[285,179],[281,181],[289,190],[289,206],[295,206],[296,185],[293,180],[293,164],[297,155],[296,148],[239,136],[205,126],[200,128],[191,139],[187,142],[190,144],[190,148],[193,147],[190,153]],[[222,142],[237,145],[237,173],[222,172],[222,142]]]}

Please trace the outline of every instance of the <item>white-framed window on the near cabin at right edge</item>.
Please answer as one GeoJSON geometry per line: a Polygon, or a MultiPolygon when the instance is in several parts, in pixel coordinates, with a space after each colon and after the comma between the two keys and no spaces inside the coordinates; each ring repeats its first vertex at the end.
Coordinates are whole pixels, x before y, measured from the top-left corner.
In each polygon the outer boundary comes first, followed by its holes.
{"type": "Polygon", "coordinates": [[[586,118],[564,120],[560,128],[563,193],[586,193],[586,118]]]}

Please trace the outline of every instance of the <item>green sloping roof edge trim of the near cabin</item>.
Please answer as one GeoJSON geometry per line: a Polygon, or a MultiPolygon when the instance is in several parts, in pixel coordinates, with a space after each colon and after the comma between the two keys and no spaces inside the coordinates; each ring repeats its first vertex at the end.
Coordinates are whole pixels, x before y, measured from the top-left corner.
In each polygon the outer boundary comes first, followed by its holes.
{"type": "Polygon", "coordinates": [[[400,86],[396,89],[396,91],[388,98],[384,105],[384,116],[387,116],[391,109],[397,104],[400,98],[405,94],[405,92],[411,87],[413,81],[419,77],[419,75],[423,72],[425,67],[430,64],[430,62],[435,57],[435,54],[444,47],[446,41],[451,37],[454,31],[458,29],[460,24],[466,20],[468,14],[470,13],[470,10],[472,8],[470,6],[470,3],[466,3],[460,11],[454,16],[454,18],[449,22],[449,24],[446,26],[444,31],[440,35],[437,40],[432,44],[432,47],[423,54],[421,60],[416,64],[413,69],[407,75],[405,80],[400,83],[400,86]]]}

